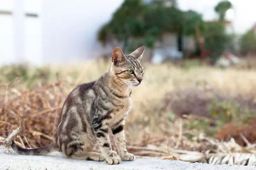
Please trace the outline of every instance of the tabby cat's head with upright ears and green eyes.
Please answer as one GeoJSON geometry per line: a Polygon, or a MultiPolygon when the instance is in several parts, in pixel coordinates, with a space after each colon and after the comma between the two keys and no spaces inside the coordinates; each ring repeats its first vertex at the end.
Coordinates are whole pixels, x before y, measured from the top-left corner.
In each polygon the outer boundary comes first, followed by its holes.
{"type": "Polygon", "coordinates": [[[140,85],[144,74],[144,68],[140,63],[144,50],[145,47],[142,46],[131,54],[124,55],[121,48],[114,48],[111,62],[113,76],[131,87],[140,85]]]}

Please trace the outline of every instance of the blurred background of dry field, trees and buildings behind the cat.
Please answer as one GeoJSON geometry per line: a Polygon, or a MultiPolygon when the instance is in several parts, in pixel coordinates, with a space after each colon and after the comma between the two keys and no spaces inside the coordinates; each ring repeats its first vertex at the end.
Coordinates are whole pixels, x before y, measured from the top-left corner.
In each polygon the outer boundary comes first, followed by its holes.
{"type": "Polygon", "coordinates": [[[128,150],[139,157],[256,164],[255,5],[0,0],[0,136],[18,127],[20,113],[26,126],[20,146],[49,144],[72,88],[108,71],[116,46],[129,54],[144,45],[144,80],[133,89],[125,125],[128,150]],[[237,161],[232,153],[247,157],[237,161]]]}

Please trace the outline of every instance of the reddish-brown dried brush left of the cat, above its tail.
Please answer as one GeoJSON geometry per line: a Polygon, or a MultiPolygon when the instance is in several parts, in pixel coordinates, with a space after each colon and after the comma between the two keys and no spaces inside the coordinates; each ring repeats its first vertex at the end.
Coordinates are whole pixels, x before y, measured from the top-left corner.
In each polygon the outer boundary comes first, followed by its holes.
{"type": "Polygon", "coordinates": [[[19,126],[18,113],[21,113],[25,123],[23,137],[26,139],[23,140],[26,147],[52,142],[58,119],[56,113],[65,99],[62,85],[56,82],[31,91],[19,91],[12,85],[6,85],[0,97],[0,136],[6,137],[19,126]]]}

